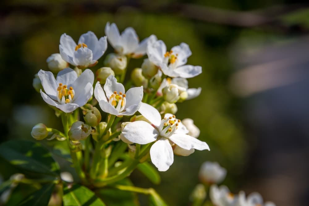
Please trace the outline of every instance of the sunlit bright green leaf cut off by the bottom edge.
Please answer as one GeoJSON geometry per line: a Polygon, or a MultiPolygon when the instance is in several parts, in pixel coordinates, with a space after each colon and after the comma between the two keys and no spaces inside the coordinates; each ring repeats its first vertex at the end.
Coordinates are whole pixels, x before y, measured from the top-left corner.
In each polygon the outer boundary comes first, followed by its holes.
{"type": "Polygon", "coordinates": [[[105,206],[95,193],[87,187],[73,184],[63,189],[63,205],[87,205],[87,206],[105,206]]]}

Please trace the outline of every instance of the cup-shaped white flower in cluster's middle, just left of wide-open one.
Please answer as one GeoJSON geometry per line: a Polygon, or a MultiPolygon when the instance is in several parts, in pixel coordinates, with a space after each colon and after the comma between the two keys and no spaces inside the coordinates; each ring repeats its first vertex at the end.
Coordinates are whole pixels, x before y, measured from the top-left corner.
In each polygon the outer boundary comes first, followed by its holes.
{"type": "Polygon", "coordinates": [[[95,99],[101,109],[116,116],[130,116],[138,111],[143,98],[143,86],[133,87],[125,93],[125,87],[114,76],[106,79],[104,90],[100,82],[95,85],[95,99]]]}

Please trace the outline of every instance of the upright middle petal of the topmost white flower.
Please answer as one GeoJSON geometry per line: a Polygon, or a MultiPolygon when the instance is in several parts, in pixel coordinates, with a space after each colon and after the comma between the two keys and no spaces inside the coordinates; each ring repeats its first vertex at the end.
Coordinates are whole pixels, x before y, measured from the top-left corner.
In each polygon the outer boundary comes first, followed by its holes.
{"type": "Polygon", "coordinates": [[[128,27],[121,33],[121,45],[123,54],[131,54],[138,48],[138,36],[132,27],[128,27]]]}

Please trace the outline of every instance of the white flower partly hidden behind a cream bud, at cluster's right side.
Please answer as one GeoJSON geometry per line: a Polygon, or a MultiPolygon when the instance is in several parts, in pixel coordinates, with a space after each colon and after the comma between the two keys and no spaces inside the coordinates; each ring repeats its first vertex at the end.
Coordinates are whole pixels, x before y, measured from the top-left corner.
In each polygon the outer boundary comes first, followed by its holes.
{"type": "Polygon", "coordinates": [[[202,88],[199,87],[199,88],[188,88],[188,80],[184,79],[184,78],[165,78],[163,79],[159,89],[157,90],[157,95],[158,96],[162,96],[163,95],[163,92],[162,90],[165,88],[165,87],[168,87],[170,85],[173,85],[174,87],[177,87],[179,88],[182,92],[185,92],[186,95],[185,96],[185,99],[182,99],[181,98],[181,95],[180,95],[180,98],[182,100],[189,100],[189,99],[193,99],[195,97],[197,97],[198,95],[201,94],[201,90],[202,88]]]}

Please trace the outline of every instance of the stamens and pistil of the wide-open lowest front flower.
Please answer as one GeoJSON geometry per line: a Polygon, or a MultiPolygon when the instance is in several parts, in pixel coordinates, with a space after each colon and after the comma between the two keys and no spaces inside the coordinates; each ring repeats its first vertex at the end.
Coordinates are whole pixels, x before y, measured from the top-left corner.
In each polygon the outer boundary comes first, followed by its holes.
{"type": "Polygon", "coordinates": [[[160,126],[158,128],[160,136],[166,138],[170,137],[178,128],[178,123],[180,123],[180,120],[177,120],[175,115],[170,116],[169,118],[165,117],[163,120],[161,120],[160,126]]]}

